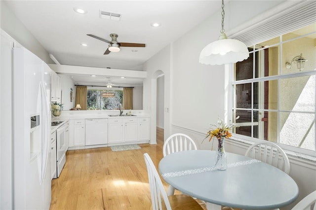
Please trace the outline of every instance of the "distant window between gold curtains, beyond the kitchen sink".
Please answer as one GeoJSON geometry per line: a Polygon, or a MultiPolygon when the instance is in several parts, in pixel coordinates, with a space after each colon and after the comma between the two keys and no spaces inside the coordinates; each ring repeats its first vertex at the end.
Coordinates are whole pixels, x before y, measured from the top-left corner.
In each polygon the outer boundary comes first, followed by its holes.
{"type": "Polygon", "coordinates": [[[123,88],[87,90],[87,110],[119,109],[123,101],[123,88]]]}

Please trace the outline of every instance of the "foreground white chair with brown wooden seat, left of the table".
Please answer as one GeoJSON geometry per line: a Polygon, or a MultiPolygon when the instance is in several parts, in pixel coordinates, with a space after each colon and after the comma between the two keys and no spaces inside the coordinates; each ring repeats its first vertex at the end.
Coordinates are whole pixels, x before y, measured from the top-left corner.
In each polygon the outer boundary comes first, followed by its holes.
{"type": "Polygon", "coordinates": [[[162,210],[162,208],[167,210],[203,210],[203,208],[188,195],[179,194],[167,196],[156,167],[148,153],[144,154],[144,159],[147,166],[153,210],[162,210]],[[162,207],[162,201],[164,207],[162,207]]]}

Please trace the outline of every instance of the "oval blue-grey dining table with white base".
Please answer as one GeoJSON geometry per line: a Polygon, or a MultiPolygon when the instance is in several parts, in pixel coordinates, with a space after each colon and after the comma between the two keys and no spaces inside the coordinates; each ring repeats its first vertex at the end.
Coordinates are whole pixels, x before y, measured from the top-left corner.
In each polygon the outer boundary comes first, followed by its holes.
{"type": "Polygon", "coordinates": [[[220,171],[216,157],[210,150],[175,152],[160,160],[158,171],[168,184],[207,202],[207,209],[277,209],[297,199],[296,182],[278,168],[227,152],[227,170],[220,171]]]}

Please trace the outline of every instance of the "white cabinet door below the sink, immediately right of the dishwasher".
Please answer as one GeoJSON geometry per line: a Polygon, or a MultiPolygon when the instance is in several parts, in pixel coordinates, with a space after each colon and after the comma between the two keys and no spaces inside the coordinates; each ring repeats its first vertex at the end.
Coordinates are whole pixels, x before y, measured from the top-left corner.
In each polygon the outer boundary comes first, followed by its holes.
{"type": "Polygon", "coordinates": [[[123,142],[123,119],[109,118],[109,143],[123,142]]]}

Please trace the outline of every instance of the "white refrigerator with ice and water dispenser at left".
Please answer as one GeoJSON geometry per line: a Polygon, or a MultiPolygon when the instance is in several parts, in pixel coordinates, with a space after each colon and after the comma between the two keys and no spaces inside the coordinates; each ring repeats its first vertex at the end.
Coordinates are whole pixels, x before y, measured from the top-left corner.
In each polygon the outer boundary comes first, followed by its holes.
{"type": "Polygon", "coordinates": [[[25,48],[13,48],[13,205],[48,210],[51,201],[51,70],[25,48]]]}

